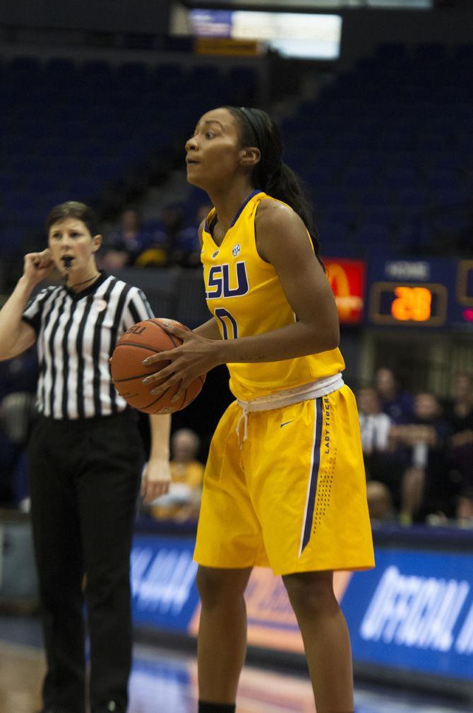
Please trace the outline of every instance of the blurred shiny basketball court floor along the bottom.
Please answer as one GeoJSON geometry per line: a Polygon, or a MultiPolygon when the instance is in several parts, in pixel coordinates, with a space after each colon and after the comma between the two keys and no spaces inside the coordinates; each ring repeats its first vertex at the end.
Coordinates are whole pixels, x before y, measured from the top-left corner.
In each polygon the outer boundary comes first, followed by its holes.
{"type": "MultiPolygon", "coordinates": [[[[0,713],[34,713],[41,707],[44,672],[37,619],[0,617],[0,713]]],[[[195,713],[195,657],[175,650],[135,646],[129,713],[195,713]]],[[[357,685],[356,713],[467,713],[471,705],[406,689],[357,685]]],[[[314,713],[311,685],[284,672],[245,667],[238,713],[314,713]]]]}

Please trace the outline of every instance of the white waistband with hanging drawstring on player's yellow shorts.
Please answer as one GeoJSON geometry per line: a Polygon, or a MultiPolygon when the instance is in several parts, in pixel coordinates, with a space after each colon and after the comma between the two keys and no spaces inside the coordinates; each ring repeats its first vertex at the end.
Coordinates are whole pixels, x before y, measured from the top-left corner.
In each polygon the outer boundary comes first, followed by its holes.
{"type": "Polygon", "coordinates": [[[333,376],[326,376],[325,379],[317,379],[317,381],[311,381],[310,384],[297,386],[296,389],[276,391],[275,394],[258,396],[256,399],[251,399],[251,401],[240,401],[240,399],[237,399],[237,403],[241,407],[241,416],[237,423],[237,436],[240,448],[244,441],[246,441],[248,414],[251,414],[252,411],[272,411],[273,409],[281,409],[283,406],[298,404],[299,401],[319,399],[321,396],[327,396],[327,394],[332,394],[333,391],[338,391],[338,389],[341,389],[343,386],[343,383],[341,374],[333,374],[333,376]],[[241,421],[244,422],[243,441],[240,441],[241,421]]]}

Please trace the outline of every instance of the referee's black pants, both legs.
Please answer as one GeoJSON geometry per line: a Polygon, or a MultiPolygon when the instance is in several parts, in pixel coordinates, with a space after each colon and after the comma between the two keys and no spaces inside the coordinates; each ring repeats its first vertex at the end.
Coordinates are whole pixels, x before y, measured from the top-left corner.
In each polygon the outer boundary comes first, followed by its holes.
{"type": "Polygon", "coordinates": [[[45,708],[125,713],[131,668],[130,549],[143,462],[132,413],[41,418],[31,436],[31,520],[47,673],[45,708]],[[84,578],[85,575],[85,578],[84,578]]]}

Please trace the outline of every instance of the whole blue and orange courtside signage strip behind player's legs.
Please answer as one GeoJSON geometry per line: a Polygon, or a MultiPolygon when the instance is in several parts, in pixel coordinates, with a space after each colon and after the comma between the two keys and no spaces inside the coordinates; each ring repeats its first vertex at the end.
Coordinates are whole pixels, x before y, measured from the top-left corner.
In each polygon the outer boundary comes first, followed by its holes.
{"type": "MultiPolygon", "coordinates": [[[[135,536],[135,625],[197,635],[193,550],[193,538],[135,536]]],[[[473,556],[385,547],[375,553],[374,570],[334,578],[355,664],[473,682],[473,556]]],[[[281,578],[254,568],[245,598],[250,645],[303,652],[281,578]]]]}

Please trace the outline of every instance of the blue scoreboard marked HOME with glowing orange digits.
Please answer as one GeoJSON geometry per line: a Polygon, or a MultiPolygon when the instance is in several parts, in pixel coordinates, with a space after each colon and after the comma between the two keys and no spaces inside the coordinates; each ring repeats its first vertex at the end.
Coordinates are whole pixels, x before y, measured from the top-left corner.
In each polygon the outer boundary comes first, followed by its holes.
{"type": "Polygon", "coordinates": [[[365,323],[473,331],[473,260],[368,262],[365,323]]]}

